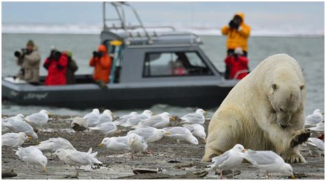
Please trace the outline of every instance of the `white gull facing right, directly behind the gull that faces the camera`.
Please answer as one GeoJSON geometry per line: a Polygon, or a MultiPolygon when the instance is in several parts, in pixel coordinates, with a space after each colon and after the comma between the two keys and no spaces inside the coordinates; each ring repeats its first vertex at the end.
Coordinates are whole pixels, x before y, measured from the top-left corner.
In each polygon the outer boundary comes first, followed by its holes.
{"type": "Polygon", "coordinates": [[[156,129],[155,127],[139,127],[138,129],[129,131],[127,135],[129,134],[138,134],[142,136],[147,143],[160,140],[163,136],[170,136],[169,132],[163,129],[156,129]]]}

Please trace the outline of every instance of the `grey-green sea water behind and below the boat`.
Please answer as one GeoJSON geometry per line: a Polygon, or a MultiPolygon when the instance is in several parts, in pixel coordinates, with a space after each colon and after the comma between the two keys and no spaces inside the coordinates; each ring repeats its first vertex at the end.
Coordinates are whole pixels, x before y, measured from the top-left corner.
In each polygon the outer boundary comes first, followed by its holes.
{"type": "MultiPolygon", "coordinates": [[[[226,56],[226,37],[206,35],[200,36],[203,41],[202,49],[210,58],[210,61],[221,72],[224,72],[224,58],[226,56]]],[[[16,65],[14,51],[25,47],[25,43],[32,39],[42,56],[42,63],[50,54],[50,47],[54,45],[58,50],[72,50],[74,59],[78,64],[76,74],[91,74],[93,69],[89,67],[89,58],[100,43],[97,34],[2,34],[2,74],[12,76],[19,71],[16,65]]],[[[324,36],[252,36],[249,39],[249,67],[253,70],[264,58],[278,53],[286,53],[296,58],[301,65],[307,82],[306,114],[311,114],[314,109],[324,109],[324,36]]],[[[46,75],[46,70],[41,67],[41,75],[46,75]]],[[[107,107],[109,109],[109,107],[107,107]]],[[[175,116],[182,116],[196,109],[196,107],[171,107],[169,105],[153,105],[151,110],[160,113],[169,111],[175,116]]],[[[59,115],[83,115],[91,111],[89,109],[66,109],[61,107],[19,106],[12,103],[2,103],[2,114],[30,114],[40,109],[48,109],[53,114],[59,115]]],[[[130,111],[142,111],[140,109],[115,110],[118,115],[130,111]]],[[[208,110],[210,115],[215,109],[208,110]]]]}

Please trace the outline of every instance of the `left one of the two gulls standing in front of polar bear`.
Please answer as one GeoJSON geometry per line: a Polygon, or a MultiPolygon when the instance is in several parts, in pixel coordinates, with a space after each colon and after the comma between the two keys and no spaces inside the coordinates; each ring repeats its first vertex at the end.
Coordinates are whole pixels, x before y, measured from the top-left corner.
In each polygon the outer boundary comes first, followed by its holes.
{"type": "Polygon", "coordinates": [[[213,164],[208,165],[210,170],[219,167],[221,172],[220,178],[223,179],[222,171],[232,169],[233,179],[235,178],[235,167],[239,166],[243,160],[239,153],[243,151],[243,146],[240,144],[235,145],[232,149],[224,152],[220,156],[212,158],[213,164]]]}

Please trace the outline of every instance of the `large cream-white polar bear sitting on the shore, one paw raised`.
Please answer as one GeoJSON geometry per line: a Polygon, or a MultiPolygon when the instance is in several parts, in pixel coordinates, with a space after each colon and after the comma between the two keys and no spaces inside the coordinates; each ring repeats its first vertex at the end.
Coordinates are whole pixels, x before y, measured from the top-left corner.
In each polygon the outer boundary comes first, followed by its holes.
{"type": "Polygon", "coordinates": [[[287,54],[265,58],[243,78],[215,111],[208,126],[204,162],[236,144],[272,150],[287,162],[305,162],[300,144],[305,123],[305,78],[287,54]]]}

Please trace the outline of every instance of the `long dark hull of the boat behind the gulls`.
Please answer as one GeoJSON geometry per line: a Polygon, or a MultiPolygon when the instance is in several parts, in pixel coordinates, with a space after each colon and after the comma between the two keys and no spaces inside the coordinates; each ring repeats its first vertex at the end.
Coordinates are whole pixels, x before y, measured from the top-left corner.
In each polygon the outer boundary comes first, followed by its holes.
{"type": "Polygon", "coordinates": [[[182,107],[217,107],[232,85],[108,85],[96,84],[44,86],[2,83],[2,98],[18,105],[56,107],[109,107],[110,109],[146,108],[155,104],[182,107]]]}

